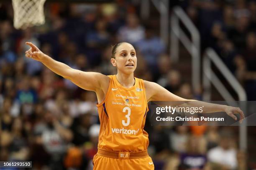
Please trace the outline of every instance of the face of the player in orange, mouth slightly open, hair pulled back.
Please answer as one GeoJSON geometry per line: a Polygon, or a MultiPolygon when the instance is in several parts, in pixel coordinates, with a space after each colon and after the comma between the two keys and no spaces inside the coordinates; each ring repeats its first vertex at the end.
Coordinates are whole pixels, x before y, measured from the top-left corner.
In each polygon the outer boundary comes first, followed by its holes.
{"type": "Polygon", "coordinates": [[[137,57],[134,47],[129,43],[122,43],[116,49],[115,59],[111,59],[117,69],[126,74],[131,74],[137,67],[137,57]]]}

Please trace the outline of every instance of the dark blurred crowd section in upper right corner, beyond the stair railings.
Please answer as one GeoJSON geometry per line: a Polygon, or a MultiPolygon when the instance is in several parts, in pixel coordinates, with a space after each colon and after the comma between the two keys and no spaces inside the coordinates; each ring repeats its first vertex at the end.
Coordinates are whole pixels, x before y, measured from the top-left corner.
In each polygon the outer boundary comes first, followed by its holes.
{"type": "Polygon", "coordinates": [[[212,47],[256,100],[256,1],[194,0],[184,3],[201,34],[202,52],[212,47]]]}

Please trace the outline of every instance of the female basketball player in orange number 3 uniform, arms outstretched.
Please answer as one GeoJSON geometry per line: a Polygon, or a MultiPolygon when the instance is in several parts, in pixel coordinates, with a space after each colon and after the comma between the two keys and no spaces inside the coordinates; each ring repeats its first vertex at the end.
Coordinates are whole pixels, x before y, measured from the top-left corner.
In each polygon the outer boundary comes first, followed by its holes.
{"type": "MultiPolygon", "coordinates": [[[[96,92],[100,134],[98,153],[93,158],[94,170],[154,170],[147,153],[148,134],[143,130],[147,102],[192,100],[176,96],[154,82],[133,77],[137,66],[136,51],[127,42],[114,45],[111,63],[117,68],[117,74],[108,76],[72,69],[45,55],[31,42],[26,44],[31,47],[26,57],[42,62],[79,87],[96,92]]],[[[240,121],[244,118],[238,107],[199,103],[205,106],[205,112],[225,111],[235,120],[234,113],[239,113],[240,121]]]]}

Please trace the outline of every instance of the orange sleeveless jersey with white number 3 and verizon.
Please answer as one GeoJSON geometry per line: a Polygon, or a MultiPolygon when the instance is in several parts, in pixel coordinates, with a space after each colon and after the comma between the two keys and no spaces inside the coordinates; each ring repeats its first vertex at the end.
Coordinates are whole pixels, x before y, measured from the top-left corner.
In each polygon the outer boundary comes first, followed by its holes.
{"type": "Polygon", "coordinates": [[[108,92],[98,104],[100,134],[98,147],[114,151],[139,151],[148,148],[148,133],[143,130],[148,105],[142,79],[125,88],[115,75],[110,77],[108,92]]]}

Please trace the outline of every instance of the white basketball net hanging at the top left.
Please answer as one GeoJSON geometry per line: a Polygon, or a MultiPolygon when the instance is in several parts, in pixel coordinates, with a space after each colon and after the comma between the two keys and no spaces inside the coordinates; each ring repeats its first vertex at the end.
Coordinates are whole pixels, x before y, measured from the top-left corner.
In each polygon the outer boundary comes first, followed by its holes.
{"type": "Polygon", "coordinates": [[[16,29],[26,29],[42,25],[44,19],[44,2],[46,0],[13,0],[13,25],[16,29]]]}

